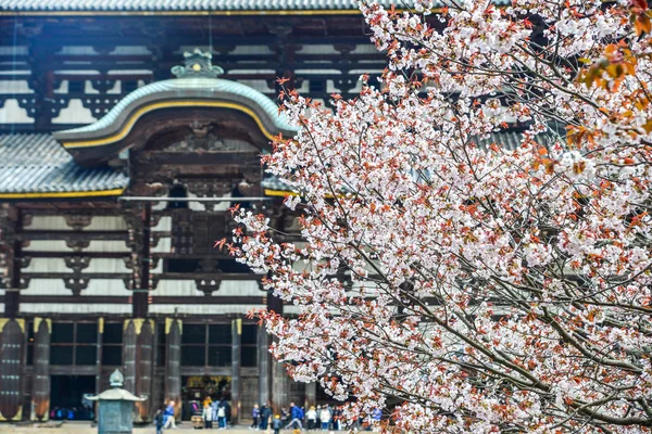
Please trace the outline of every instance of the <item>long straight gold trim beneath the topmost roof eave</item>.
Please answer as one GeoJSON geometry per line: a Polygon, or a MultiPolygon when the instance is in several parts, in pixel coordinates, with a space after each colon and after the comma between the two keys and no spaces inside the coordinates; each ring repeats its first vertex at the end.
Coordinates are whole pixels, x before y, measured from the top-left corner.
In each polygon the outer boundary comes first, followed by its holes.
{"type": "MultiPolygon", "coordinates": [[[[397,10],[399,12],[403,10],[397,10]]],[[[277,11],[1,11],[0,16],[247,16],[247,15],[361,15],[358,9],[277,11]]]]}

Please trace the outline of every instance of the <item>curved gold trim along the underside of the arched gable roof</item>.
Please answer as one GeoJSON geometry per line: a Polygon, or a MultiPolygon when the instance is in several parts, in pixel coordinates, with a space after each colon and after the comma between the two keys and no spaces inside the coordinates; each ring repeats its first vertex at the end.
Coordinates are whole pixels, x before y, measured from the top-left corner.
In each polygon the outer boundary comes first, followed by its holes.
{"type": "Polygon", "coordinates": [[[255,122],[255,124],[258,125],[258,127],[261,129],[261,131],[263,132],[263,135],[265,135],[265,137],[267,139],[269,139],[269,140],[274,139],[274,136],[265,129],[260,117],[258,117],[258,115],[255,113],[253,113],[253,111],[251,111],[249,107],[246,107],[244,105],[236,104],[236,103],[231,103],[231,102],[221,102],[221,101],[165,101],[165,102],[158,102],[154,104],[149,104],[149,105],[145,105],[145,106],[140,107],[139,110],[137,110],[129,116],[129,118],[127,119],[125,125],[121,128],[121,130],[113,136],[105,137],[103,139],[88,140],[88,141],[82,141],[82,142],[64,142],[62,144],[66,149],[77,149],[77,148],[86,148],[86,146],[101,146],[104,144],[115,143],[115,142],[124,139],[131,131],[136,122],[140,117],[146,115],[147,113],[150,113],[150,112],[153,112],[153,111],[160,110],[160,108],[172,108],[172,107],[221,107],[221,108],[237,110],[237,111],[240,111],[240,112],[246,113],[249,116],[251,116],[253,118],[253,120],[255,122]]]}

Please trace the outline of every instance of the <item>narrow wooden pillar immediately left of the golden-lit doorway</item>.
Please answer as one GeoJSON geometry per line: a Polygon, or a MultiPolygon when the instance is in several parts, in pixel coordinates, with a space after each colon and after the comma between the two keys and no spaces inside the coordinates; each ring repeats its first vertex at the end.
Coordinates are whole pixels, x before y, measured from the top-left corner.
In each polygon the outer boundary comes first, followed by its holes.
{"type": "Polygon", "coordinates": [[[165,403],[174,400],[175,417],[181,416],[181,333],[180,319],[165,318],[165,403]]]}

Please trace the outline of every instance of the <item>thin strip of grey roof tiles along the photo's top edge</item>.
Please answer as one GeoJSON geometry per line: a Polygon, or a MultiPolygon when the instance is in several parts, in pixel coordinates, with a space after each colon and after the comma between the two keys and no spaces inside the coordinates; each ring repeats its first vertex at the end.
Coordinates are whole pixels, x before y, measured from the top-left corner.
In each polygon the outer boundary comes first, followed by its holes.
{"type": "MultiPolygon", "coordinates": [[[[403,7],[401,0],[376,0],[403,7]]],[[[447,0],[435,2],[443,5],[447,0]]],[[[496,0],[511,4],[511,0],[496,0]]],[[[333,11],[358,9],[358,0],[0,0],[0,11],[333,11]]]]}

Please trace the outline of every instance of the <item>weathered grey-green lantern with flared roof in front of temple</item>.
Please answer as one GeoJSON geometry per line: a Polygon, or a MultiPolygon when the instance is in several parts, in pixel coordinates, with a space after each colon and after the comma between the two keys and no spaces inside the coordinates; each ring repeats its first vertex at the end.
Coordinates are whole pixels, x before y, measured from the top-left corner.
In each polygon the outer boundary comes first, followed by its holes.
{"type": "Polygon", "coordinates": [[[98,434],[131,434],[134,403],[147,398],[135,396],[122,388],[125,378],[117,369],[109,378],[112,388],[88,399],[99,400],[98,434]]]}

